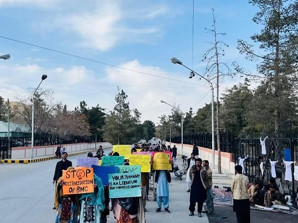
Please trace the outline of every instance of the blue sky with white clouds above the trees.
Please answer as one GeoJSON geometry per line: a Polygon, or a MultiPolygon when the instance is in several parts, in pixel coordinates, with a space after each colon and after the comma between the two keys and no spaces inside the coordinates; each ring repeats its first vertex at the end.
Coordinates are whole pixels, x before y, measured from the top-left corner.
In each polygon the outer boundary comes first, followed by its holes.
{"type": "MultiPolygon", "coordinates": [[[[11,55],[0,60],[0,96],[26,97],[47,74],[41,88],[52,89],[53,100],[69,110],[80,101],[112,110],[119,87],[142,121],[158,123],[158,116],[170,114],[171,107],[160,100],[197,111],[211,102],[208,83],[189,79],[189,71],[170,59],[204,74],[203,55],[214,41],[205,29],[212,28],[212,8],[217,31],[226,33],[219,41],[228,45],[220,61],[231,70],[237,61],[256,72],[236,49],[238,39],[251,43],[250,36],[260,31],[251,20],[258,8],[247,0],[194,0],[194,23],[192,0],[0,0],[0,55],[11,55]]],[[[226,77],[220,93],[241,81],[226,77]]]]}

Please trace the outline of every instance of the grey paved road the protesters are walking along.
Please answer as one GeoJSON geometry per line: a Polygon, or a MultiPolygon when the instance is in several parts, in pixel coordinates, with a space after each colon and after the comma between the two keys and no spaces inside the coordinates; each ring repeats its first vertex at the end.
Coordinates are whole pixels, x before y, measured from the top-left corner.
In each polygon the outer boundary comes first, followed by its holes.
{"type": "MultiPolygon", "coordinates": [[[[105,150],[108,154],[110,150],[105,150]]],[[[69,157],[76,166],[76,158],[69,157]]],[[[32,164],[0,165],[0,222],[1,223],[53,223],[56,211],[53,208],[55,187],[52,184],[55,165],[59,160],[50,160],[32,164]]],[[[179,161],[180,166],[180,161],[179,161]]],[[[189,193],[186,192],[185,176],[182,181],[172,174],[170,184],[170,210],[172,213],[155,213],[156,202],[152,201],[149,191],[147,202],[148,223],[185,221],[208,222],[207,216],[188,216],[189,193]]],[[[111,213],[108,223],[115,223],[111,213]]]]}

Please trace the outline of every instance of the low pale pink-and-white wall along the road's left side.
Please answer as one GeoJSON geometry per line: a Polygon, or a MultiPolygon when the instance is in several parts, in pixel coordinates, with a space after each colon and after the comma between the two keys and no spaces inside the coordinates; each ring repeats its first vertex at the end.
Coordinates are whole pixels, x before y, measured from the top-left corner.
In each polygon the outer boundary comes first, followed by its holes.
{"type": "MultiPolygon", "coordinates": [[[[96,147],[109,147],[112,144],[108,142],[96,143],[96,147]]],[[[50,146],[34,146],[33,155],[34,157],[55,155],[57,147],[59,145],[50,146]]],[[[63,144],[66,147],[66,152],[76,152],[81,150],[92,150],[95,148],[95,143],[75,143],[75,144],[63,144]]],[[[31,158],[31,146],[26,147],[12,147],[11,148],[11,159],[26,159],[31,158]]]]}

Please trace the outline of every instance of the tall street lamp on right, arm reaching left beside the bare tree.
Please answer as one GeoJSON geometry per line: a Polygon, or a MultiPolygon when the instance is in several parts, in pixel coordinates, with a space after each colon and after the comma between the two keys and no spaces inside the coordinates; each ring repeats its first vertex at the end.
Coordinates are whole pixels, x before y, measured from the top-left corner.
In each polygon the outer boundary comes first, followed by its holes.
{"type": "MultiPolygon", "coordinates": [[[[192,78],[193,76],[195,76],[195,74],[197,74],[199,77],[203,78],[204,80],[206,80],[212,90],[212,104],[211,104],[211,116],[212,116],[212,167],[215,168],[215,131],[214,131],[214,87],[213,84],[210,80],[208,80],[207,78],[205,78],[204,76],[198,74],[196,71],[190,69],[189,67],[185,66],[182,61],[180,61],[179,59],[173,57],[171,58],[171,62],[172,63],[178,63],[182,66],[184,66],[186,69],[189,69],[191,71],[189,78],[192,78]]],[[[219,136],[218,136],[219,137],[219,136]]]]}

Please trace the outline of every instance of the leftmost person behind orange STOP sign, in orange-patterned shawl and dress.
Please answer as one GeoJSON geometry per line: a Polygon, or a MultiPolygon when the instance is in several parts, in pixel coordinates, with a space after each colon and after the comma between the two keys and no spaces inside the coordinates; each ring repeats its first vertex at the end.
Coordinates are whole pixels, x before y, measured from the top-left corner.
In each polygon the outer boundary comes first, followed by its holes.
{"type": "MultiPolygon", "coordinates": [[[[67,169],[74,169],[68,167],[67,169]]],[[[62,176],[57,180],[55,190],[55,208],[57,210],[55,223],[77,223],[79,214],[79,202],[76,194],[64,195],[62,190],[62,176]]]]}

